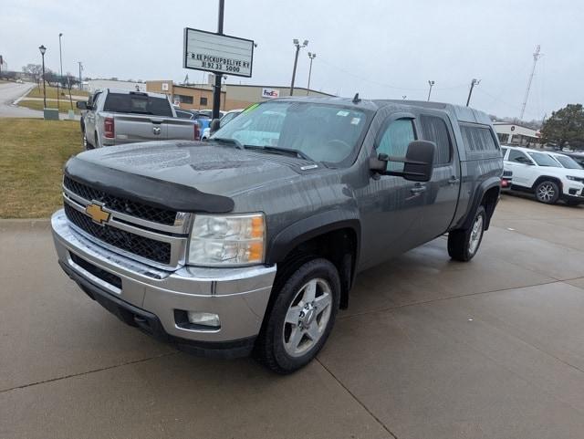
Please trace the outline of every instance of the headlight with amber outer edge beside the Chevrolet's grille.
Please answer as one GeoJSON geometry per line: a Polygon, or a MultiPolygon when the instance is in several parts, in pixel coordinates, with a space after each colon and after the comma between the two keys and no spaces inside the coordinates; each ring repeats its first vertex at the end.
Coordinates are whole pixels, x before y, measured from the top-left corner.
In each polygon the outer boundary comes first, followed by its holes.
{"type": "Polygon", "coordinates": [[[188,263],[248,266],[264,262],[264,214],[195,214],[188,263]]]}

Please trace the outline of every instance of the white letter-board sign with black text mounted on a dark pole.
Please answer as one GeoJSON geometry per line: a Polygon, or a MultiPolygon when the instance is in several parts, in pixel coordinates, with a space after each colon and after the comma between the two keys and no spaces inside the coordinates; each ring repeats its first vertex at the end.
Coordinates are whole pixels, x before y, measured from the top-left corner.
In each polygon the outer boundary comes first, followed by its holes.
{"type": "Polygon", "coordinates": [[[184,28],[183,68],[252,76],[254,41],[184,28]]]}

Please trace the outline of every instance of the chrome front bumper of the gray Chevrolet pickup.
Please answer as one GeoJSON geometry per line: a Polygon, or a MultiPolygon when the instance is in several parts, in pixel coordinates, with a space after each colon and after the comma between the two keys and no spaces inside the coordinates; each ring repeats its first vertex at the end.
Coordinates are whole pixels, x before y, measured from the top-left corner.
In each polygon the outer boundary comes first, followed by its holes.
{"type": "Polygon", "coordinates": [[[63,210],[51,218],[60,266],[89,297],[158,339],[203,355],[249,353],[261,328],[276,266],[182,267],[165,271],[99,246],[70,225],[63,210]],[[219,316],[219,328],[193,327],[186,311],[219,316]]]}

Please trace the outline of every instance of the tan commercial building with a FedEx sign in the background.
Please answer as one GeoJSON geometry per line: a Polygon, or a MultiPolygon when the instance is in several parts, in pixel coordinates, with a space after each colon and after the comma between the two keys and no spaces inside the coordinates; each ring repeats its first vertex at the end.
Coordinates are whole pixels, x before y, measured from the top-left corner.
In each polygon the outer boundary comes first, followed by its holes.
{"type": "MultiPolygon", "coordinates": [[[[213,108],[213,85],[176,85],[172,80],[146,81],[146,90],[164,93],[173,103],[184,110],[211,110],[213,108]]],[[[254,102],[281,98],[290,95],[288,86],[261,86],[224,84],[221,88],[221,110],[245,108],[254,102]]],[[[295,88],[294,96],[333,96],[313,89],[295,88]]]]}

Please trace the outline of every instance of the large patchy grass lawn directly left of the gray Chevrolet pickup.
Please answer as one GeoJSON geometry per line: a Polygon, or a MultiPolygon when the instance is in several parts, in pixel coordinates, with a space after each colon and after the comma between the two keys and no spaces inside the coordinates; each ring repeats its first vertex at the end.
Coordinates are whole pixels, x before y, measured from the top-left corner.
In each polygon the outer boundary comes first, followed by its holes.
{"type": "Polygon", "coordinates": [[[82,149],[78,120],[0,119],[0,132],[0,218],[47,218],[62,205],[63,164],[82,149]]]}

